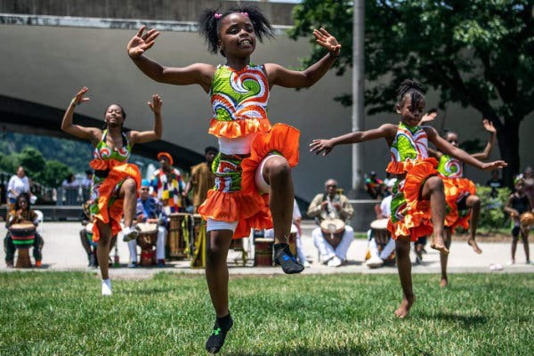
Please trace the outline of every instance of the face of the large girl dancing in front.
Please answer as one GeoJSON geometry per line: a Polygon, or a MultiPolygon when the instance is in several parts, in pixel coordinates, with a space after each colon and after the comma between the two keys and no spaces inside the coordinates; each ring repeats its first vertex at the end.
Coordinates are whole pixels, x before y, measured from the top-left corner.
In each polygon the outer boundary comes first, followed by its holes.
{"type": "Polygon", "coordinates": [[[234,12],[223,18],[219,31],[219,44],[227,58],[252,54],[255,50],[255,33],[248,16],[234,12]]]}

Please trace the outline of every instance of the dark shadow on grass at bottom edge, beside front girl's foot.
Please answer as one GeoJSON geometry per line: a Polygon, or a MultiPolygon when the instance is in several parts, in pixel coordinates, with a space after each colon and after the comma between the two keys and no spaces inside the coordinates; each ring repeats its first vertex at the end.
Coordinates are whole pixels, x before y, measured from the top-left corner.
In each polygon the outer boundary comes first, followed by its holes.
{"type": "Polygon", "coordinates": [[[301,347],[285,348],[282,350],[270,350],[269,352],[224,352],[228,356],[267,356],[275,354],[277,356],[347,356],[347,355],[364,355],[368,351],[362,346],[349,347],[301,347]]]}

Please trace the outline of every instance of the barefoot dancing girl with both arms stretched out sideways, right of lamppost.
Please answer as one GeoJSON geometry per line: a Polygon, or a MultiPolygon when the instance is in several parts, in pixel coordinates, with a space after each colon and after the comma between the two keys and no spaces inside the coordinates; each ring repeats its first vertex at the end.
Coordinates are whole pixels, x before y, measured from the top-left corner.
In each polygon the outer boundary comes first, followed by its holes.
{"type": "Polygon", "coordinates": [[[506,166],[503,161],[482,163],[464,150],[443,140],[430,126],[419,126],[425,109],[422,86],[405,80],[397,92],[395,109],[401,115],[399,125],[384,124],[368,130],[344,134],[329,140],[313,140],[316,154],[326,156],[336,145],[384,138],[390,147],[392,161],[386,171],[397,175],[393,187],[392,216],[388,230],[395,239],[397,268],[404,298],[395,315],[405,318],[416,300],[411,280],[410,241],[433,232],[431,247],[448,254],[445,246],[445,194],[435,158],[428,157],[428,141],[442,152],[483,170],[506,166]]]}

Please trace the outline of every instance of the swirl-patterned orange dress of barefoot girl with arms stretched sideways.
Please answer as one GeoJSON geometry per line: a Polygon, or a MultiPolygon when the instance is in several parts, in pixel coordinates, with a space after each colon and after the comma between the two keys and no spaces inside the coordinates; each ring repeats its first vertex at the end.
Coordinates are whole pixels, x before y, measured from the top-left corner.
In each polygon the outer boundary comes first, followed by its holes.
{"type": "Polygon", "coordinates": [[[422,126],[399,123],[390,152],[392,161],[386,171],[399,179],[393,186],[388,230],[393,239],[409,236],[415,241],[433,231],[430,202],[419,195],[426,179],[438,174],[438,162],[428,157],[428,139],[422,126]]]}

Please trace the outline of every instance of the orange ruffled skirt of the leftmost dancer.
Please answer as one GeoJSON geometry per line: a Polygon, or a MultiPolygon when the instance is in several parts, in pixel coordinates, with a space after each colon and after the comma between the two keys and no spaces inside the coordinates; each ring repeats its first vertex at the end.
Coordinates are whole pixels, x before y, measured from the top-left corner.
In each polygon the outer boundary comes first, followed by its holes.
{"type": "Polygon", "coordinates": [[[94,187],[96,191],[96,201],[93,202],[95,209],[93,211],[93,242],[100,239],[100,231],[96,220],[101,223],[111,223],[112,236],[117,235],[122,230],[120,221],[124,215],[123,198],[115,197],[117,187],[125,181],[126,178],[133,178],[137,188],[141,187],[141,174],[139,168],[135,165],[117,161],[116,159],[102,160],[93,159],[89,166],[96,170],[109,170],[108,176],[101,184],[94,187]]]}

